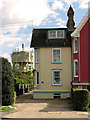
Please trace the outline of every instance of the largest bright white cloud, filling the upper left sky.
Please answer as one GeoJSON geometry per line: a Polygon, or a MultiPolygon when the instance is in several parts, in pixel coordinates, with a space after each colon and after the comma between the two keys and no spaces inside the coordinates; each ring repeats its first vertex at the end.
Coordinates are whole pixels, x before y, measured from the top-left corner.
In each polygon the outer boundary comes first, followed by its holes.
{"type": "Polygon", "coordinates": [[[7,46],[13,47],[21,41],[16,37],[17,31],[21,27],[38,26],[48,15],[54,15],[56,12],[48,5],[48,0],[0,0],[0,45],[7,43],[7,46]],[[9,35],[3,33],[10,32],[9,35]]]}

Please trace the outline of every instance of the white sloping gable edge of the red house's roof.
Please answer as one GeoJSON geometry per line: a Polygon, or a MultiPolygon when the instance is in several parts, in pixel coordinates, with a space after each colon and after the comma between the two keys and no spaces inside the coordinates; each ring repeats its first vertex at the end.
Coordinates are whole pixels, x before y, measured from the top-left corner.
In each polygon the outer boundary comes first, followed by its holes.
{"type": "Polygon", "coordinates": [[[82,18],[82,20],[80,21],[79,25],[77,26],[77,28],[75,29],[75,31],[71,34],[72,37],[79,37],[80,36],[80,31],[83,28],[83,26],[85,25],[85,23],[88,21],[90,15],[89,15],[89,11],[86,13],[86,15],[82,18]]]}

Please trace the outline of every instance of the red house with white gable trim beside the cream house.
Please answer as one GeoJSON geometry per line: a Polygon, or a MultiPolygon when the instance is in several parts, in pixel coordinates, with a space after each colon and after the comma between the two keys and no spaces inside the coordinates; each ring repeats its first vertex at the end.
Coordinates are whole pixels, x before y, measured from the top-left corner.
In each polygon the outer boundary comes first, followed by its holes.
{"type": "Polygon", "coordinates": [[[89,11],[83,17],[72,36],[72,61],[74,88],[90,90],[90,16],[89,11]]]}

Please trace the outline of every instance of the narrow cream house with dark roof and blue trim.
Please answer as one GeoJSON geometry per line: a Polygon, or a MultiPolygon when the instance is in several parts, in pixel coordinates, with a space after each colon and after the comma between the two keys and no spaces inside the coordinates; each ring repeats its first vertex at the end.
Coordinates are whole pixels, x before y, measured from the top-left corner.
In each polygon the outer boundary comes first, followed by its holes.
{"type": "MultiPolygon", "coordinates": [[[[74,29],[72,30],[71,26],[69,29],[69,22],[68,28],[33,29],[31,47],[34,47],[35,56],[34,99],[70,97],[72,82],[70,34],[74,29]]],[[[74,24],[72,27],[74,28],[74,24]]]]}

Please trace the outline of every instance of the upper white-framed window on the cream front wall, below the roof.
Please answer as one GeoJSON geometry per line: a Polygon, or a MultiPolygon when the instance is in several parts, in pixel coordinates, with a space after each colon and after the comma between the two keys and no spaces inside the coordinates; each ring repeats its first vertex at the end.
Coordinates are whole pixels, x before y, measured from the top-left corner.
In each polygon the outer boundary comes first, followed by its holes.
{"type": "Polygon", "coordinates": [[[61,62],[61,48],[52,49],[52,62],[61,62]]]}

